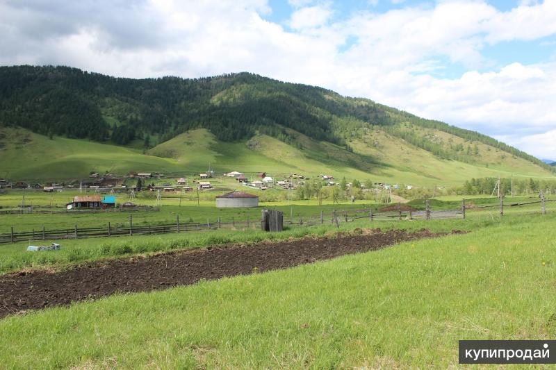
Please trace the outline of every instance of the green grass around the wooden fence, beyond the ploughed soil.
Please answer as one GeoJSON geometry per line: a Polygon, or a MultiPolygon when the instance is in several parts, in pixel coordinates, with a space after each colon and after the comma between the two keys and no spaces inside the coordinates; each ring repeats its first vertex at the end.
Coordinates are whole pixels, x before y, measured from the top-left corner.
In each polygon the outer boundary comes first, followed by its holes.
{"type": "MultiPolygon", "coordinates": [[[[474,199],[475,205],[496,205],[496,199],[474,199]]],[[[530,199],[521,199],[521,201],[530,201],[530,199]]],[[[425,209],[425,201],[416,200],[408,203],[412,207],[423,210],[425,209]]],[[[439,201],[432,199],[430,201],[432,210],[451,210],[458,209],[461,201],[439,201]]],[[[306,205],[306,202],[297,202],[292,205],[273,205],[270,208],[281,210],[285,214],[285,219],[292,217],[297,222],[300,217],[318,217],[320,211],[324,212],[325,220],[332,218],[332,210],[338,210],[339,215],[342,211],[359,212],[363,215],[366,209],[373,208],[373,212],[383,208],[384,204],[340,204],[340,205],[306,205]]],[[[42,226],[46,230],[67,228],[68,233],[73,232],[75,225],[81,228],[85,227],[101,227],[107,226],[108,222],[111,227],[129,227],[129,213],[127,212],[99,212],[96,214],[54,214],[54,215],[0,215],[0,230],[3,233],[10,232],[10,226],[14,226],[15,232],[36,230],[37,240],[26,240],[15,244],[0,245],[0,273],[22,269],[28,267],[57,266],[60,264],[78,263],[88,260],[98,260],[101,258],[114,258],[124,255],[138,253],[152,253],[157,251],[168,251],[172,249],[187,249],[198,246],[206,246],[208,244],[220,244],[227,242],[254,242],[261,240],[265,235],[255,230],[244,230],[247,224],[247,217],[250,219],[250,226],[253,228],[261,216],[261,208],[235,208],[235,209],[217,209],[213,205],[197,206],[164,206],[160,212],[134,212],[133,225],[144,226],[147,224],[172,224],[179,216],[180,222],[183,224],[189,221],[206,222],[207,220],[214,224],[218,217],[222,222],[236,223],[236,230],[223,229],[210,232],[189,232],[180,234],[167,235],[136,235],[133,237],[99,237],[90,239],[57,239],[42,241],[40,239],[40,231],[42,226]],[[61,251],[53,253],[29,253],[26,247],[29,244],[45,244],[57,242],[63,246],[61,251]]],[[[267,207],[269,208],[269,207],[267,207]]],[[[548,213],[556,212],[556,203],[546,203],[548,213]]],[[[535,215],[540,212],[540,205],[532,204],[523,207],[505,207],[505,215],[535,215]]],[[[375,221],[370,224],[366,219],[356,223],[350,223],[342,226],[343,228],[352,229],[355,227],[381,227],[381,228],[433,228],[434,230],[452,230],[452,228],[464,228],[465,230],[474,230],[482,227],[482,224],[476,224],[477,220],[490,219],[495,221],[499,219],[498,206],[481,210],[467,210],[467,220],[434,220],[434,221],[412,221],[411,223],[402,221],[375,221]],[[471,220],[471,221],[470,221],[471,220]]],[[[231,226],[224,226],[230,228],[231,226]]],[[[304,235],[304,233],[312,233],[320,235],[322,230],[332,229],[331,225],[319,228],[306,228],[289,230],[287,233],[278,234],[275,238],[287,238],[291,233],[304,235]]]]}

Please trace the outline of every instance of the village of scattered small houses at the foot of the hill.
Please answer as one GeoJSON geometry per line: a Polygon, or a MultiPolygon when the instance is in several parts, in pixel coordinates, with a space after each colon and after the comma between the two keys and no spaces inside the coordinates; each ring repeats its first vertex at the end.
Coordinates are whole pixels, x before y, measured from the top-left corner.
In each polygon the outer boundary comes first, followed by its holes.
{"type": "MultiPolygon", "coordinates": [[[[108,208],[136,208],[140,194],[144,199],[156,198],[154,205],[162,205],[163,199],[170,196],[180,196],[180,204],[183,196],[188,199],[187,195],[192,194],[189,199],[199,199],[199,192],[202,194],[209,192],[212,194],[211,199],[215,200],[216,207],[231,206],[224,204],[222,196],[228,199],[240,197],[243,201],[238,202],[238,207],[257,206],[259,194],[272,190],[272,194],[281,194],[281,199],[292,200],[295,198],[295,190],[301,187],[309,187],[309,183],[313,187],[329,188],[332,190],[332,198],[336,201],[334,188],[350,190],[357,188],[358,194],[349,192],[349,199],[354,202],[357,198],[363,199],[364,193],[368,193],[367,199],[386,199],[386,203],[392,201],[392,191],[399,190],[400,185],[390,185],[387,183],[371,183],[370,181],[347,182],[345,178],[338,181],[331,174],[318,174],[316,176],[306,176],[304,174],[269,174],[261,171],[256,173],[243,173],[240,171],[229,171],[217,173],[212,169],[202,173],[193,174],[163,174],[160,172],[147,171],[130,171],[125,176],[117,174],[99,174],[91,171],[87,178],[76,178],[72,180],[62,180],[59,182],[47,181],[44,183],[30,182],[22,180],[6,180],[0,178],[0,194],[6,192],[23,192],[22,203],[20,207],[28,206],[25,203],[25,192],[43,192],[43,193],[60,193],[76,194],[72,199],[67,199],[65,208],[68,211],[84,210],[84,209],[108,209],[108,208]],[[250,194],[254,192],[255,194],[250,194]],[[148,196],[147,194],[153,194],[148,196]],[[371,193],[374,194],[371,196],[371,193]],[[235,194],[235,195],[234,195],[235,194]],[[117,196],[116,196],[117,195],[117,196]],[[124,197],[122,197],[124,196],[124,197]],[[257,199],[257,202],[246,203],[245,199],[257,199]],[[117,203],[117,199],[120,200],[117,203]],[[219,201],[220,199],[220,201],[219,201]],[[124,201],[122,201],[124,200],[124,201]]],[[[406,190],[411,190],[411,185],[403,185],[406,190]]],[[[325,195],[326,196],[326,195],[325,195]]],[[[206,196],[204,196],[206,198],[206,196]]],[[[299,198],[299,196],[297,196],[299,198]]],[[[306,194],[303,195],[306,197],[306,194]]],[[[59,198],[59,196],[57,197],[59,198]]],[[[265,200],[279,199],[280,196],[271,196],[270,193],[265,196],[265,200]]],[[[334,202],[333,202],[334,203],[334,202]]]]}

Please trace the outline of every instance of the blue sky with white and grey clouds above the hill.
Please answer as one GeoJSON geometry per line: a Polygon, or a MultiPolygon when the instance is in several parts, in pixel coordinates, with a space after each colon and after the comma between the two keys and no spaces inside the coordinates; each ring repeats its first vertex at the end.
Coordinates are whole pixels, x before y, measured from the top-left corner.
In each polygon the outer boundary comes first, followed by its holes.
{"type": "Polygon", "coordinates": [[[253,72],[556,160],[556,0],[0,0],[0,65],[253,72]]]}

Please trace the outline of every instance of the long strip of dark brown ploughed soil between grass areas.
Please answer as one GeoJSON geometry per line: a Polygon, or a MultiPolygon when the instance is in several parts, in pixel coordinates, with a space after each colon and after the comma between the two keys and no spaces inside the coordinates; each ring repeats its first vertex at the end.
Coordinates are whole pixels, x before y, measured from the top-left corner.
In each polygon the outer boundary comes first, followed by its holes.
{"type": "Polygon", "coordinates": [[[286,269],[339,255],[373,251],[405,240],[441,235],[427,230],[382,233],[380,229],[357,229],[354,234],[103,260],[54,273],[38,270],[6,274],[0,276],[0,317],[116,292],[144,292],[190,285],[201,279],[286,269]]]}

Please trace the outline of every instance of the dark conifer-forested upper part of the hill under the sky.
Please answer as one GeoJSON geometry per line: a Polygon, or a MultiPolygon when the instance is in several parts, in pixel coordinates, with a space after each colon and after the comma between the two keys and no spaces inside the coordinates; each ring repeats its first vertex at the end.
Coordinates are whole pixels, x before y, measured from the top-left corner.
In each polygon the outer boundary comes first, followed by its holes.
{"type": "Polygon", "coordinates": [[[146,147],[207,128],[223,142],[265,134],[300,148],[297,132],[347,151],[370,140],[368,133],[380,128],[442,159],[480,161],[477,144],[484,144],[550,168],[474,131],[368,99],[249,73],[132,79],[70,67],[0,67],[0,125],[115,144],[142,140],[146,147]],[[443,140],[437,133],[450,137],[443,140]]]}

